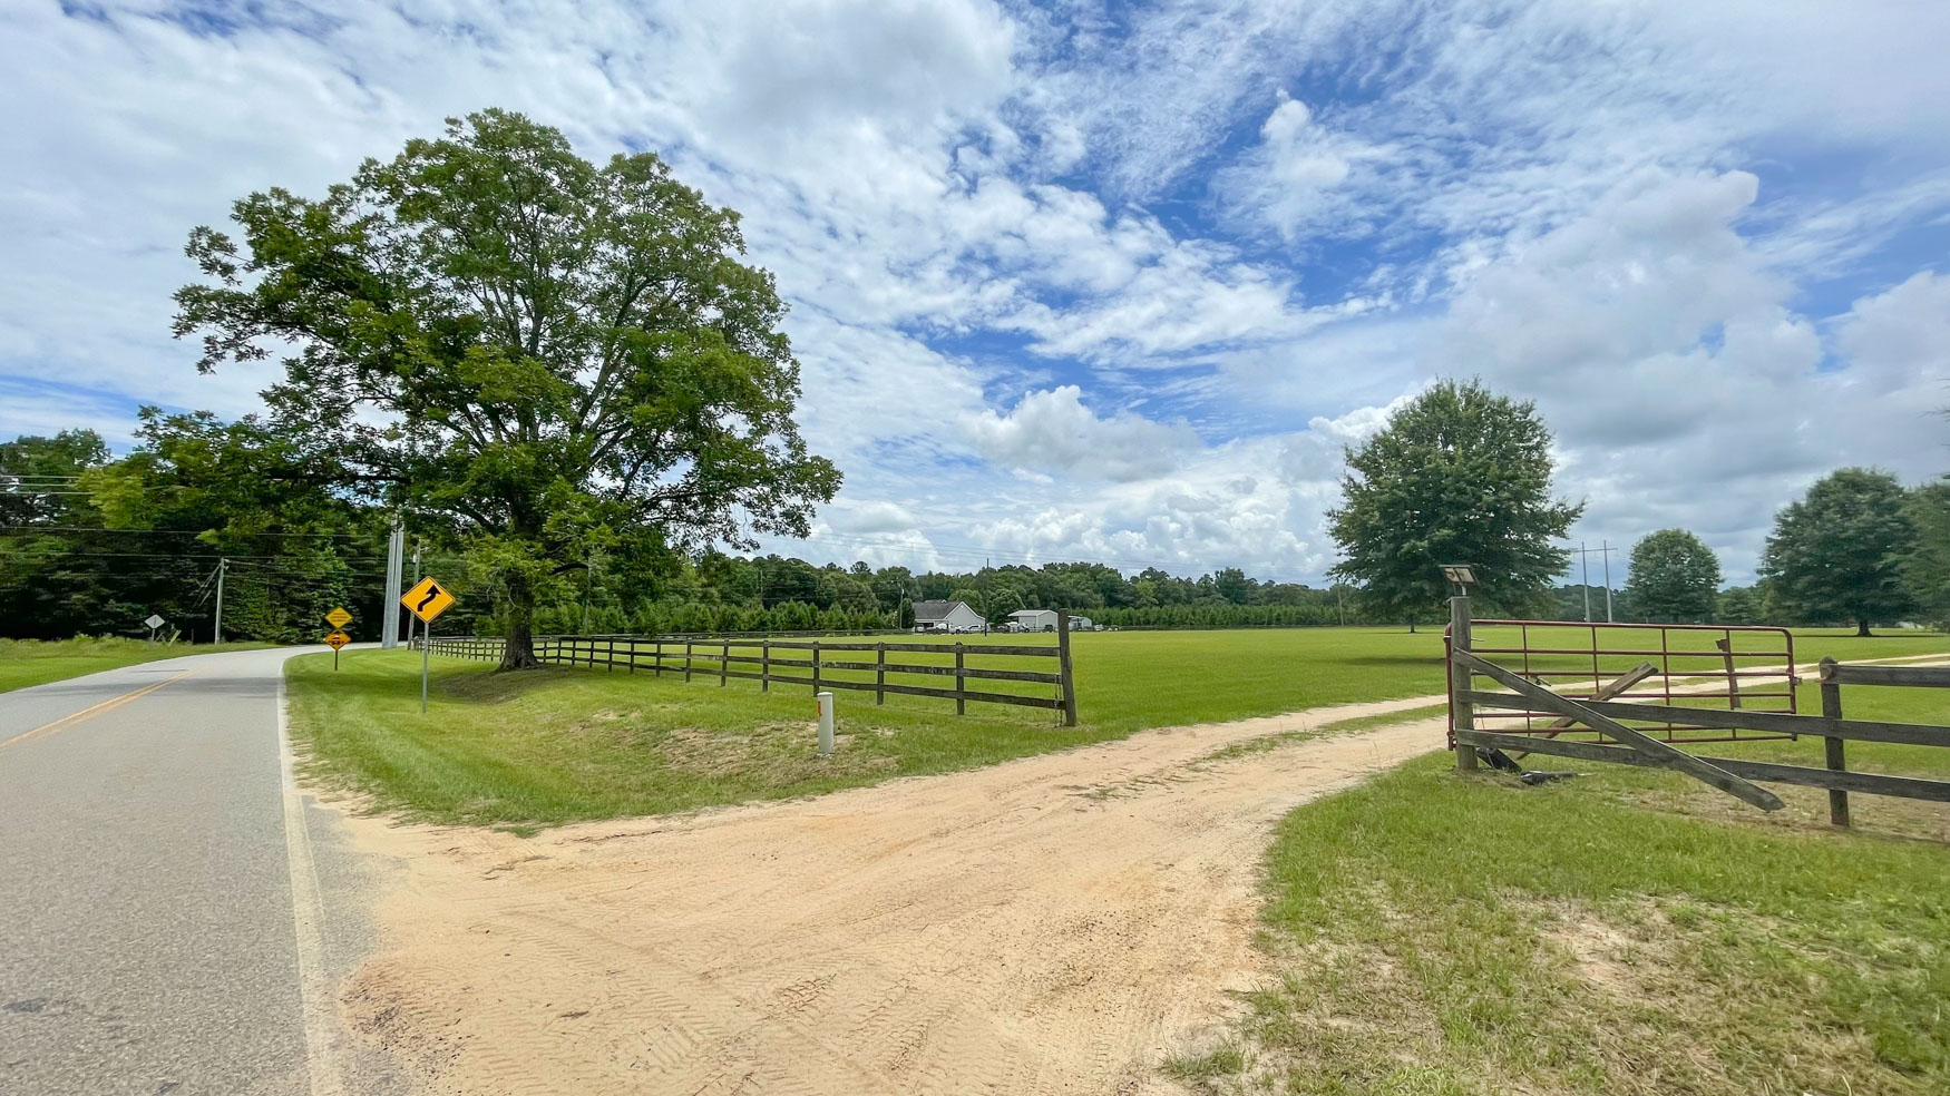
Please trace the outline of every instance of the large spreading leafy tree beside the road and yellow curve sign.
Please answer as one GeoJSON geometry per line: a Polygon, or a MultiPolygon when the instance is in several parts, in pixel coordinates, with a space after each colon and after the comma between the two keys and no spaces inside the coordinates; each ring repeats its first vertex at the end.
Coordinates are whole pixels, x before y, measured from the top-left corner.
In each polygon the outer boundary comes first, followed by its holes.
{"type": "Polygon", "coordinates": [[[595,166],[497,109],[367,160],[320,199],[189,236],[176,294],[199,367],[283,357],[273,421],[306,476],[408,515],[491,571],[503,669],[540,593],[591,552],[805,534],[838,472],[794,423],[800,369],[772,277],[729,209],[649,154],[595,166]]]}

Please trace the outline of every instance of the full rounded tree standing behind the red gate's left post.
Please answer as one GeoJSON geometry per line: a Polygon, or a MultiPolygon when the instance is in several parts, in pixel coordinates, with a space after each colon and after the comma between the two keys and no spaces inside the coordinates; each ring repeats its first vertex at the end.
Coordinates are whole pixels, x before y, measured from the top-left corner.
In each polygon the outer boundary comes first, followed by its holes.
{"type": "Polygon", "coordinates": [[[1371,610],[1431,620],[1441,564],[1472,564],[1486,605],[1535,610],[1570,554],[1552,544],[1583,503],[1550,495],[1550,431],[1531,402],[1443,380],[1347,450],[1344,501],[1328,513],[1342,562],[1371,610]]]}

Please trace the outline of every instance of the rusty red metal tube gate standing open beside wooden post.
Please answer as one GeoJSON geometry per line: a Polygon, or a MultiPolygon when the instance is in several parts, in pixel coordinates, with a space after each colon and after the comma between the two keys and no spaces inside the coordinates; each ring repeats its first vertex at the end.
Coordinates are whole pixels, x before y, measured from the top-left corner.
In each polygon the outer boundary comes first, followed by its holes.
{"type": "MultiPolygon", "coordinates": [[[[1447,634],[1443,647],[1447,653],[1447,634]]],[[[1656,702],[1687,708],[1796,712],[1794,634],[1724,624],[1587,624],[1581,620],[1474,620],[1470,651],[1574,700],[1656,702]]],[[[1556,712],[1474,712],[1478,731],[1583,737],[1556,712]]],[[[1669,743],[1757,741],[1794,735],[1644,724],[1669,743]]],[[[1449,745],[1455,747],[1455,673],[1449,673],[1449,745]]]]}

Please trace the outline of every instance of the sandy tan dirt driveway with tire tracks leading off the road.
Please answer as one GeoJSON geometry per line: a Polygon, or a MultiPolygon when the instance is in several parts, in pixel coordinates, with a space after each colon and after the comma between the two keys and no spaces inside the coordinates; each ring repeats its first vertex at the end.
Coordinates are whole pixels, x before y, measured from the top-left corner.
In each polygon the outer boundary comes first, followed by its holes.
{"type": "Polygon", "coordinates": [[[526,841],[353,819],[400,872],[341,1008],[425,1092],[1170,1092],[1254,983],[1271,823],[1443,731],[1201,759],[1433,700],[526,841]]]}

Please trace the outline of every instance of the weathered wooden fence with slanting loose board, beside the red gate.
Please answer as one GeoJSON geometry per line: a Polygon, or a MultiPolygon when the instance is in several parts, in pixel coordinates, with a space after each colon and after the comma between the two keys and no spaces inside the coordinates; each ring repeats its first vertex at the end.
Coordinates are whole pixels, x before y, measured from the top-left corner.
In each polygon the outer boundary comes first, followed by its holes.
{"type": "MultiPolygon", "coordinates": [[[[1782,803],[1778,796],[1757,786],[1757,780],[1771,784],[1800,784],[1810,788],[1827,788],[1829,819],[1835,825],[1849,825],[1849,792],[1950,803],[1950,782],[1921,780],[1913,776],[1884,776],[1878,772],[1852,772],[1847,766],[1843,749],[1843,743],[1849,739],[1950,747],[1950,727],[1849,720],[1843,716],[1841,706],[1843,685],[1950,688],[1950,667],[1870,667],[1841,665],[1835,659],[1821,659],[1819,716],[1755,712],[1747,708],[1632,704],[1562,696],[1519,673],[1513,673],[1509,667],[1496,665],[1476,655],[1470,651],[1466,597],[1451,599],[1449,628],[1449,669],[1455,683],[1455,751],[1457,770],[1461,772],[1476,768],[1478,749],[1527,751],[1554,757],[1574,757],[1580,761],[1671,768],[1696,780],[1704,780],[1706,784],[1765,811],[1776,811],[1782,803]],[[1474,688],[1474,677],[1488,677],[1490,681],[1505,686],[1507,692],[1474,688]],[[1556,712],[1558,716],[1580,724],[1581,727],[1599,731],[1613,741],[1572,741],[1556,737],[1562,733],[1556,725],[1529,733],[1480,731],[1476,729],[1476,708],[1556,712]],[[1819,737],[1825,745],[1825,768],[1741,761],[1730,757],[1698,757],[1681,751],[1673,743],[1650,737],[1626,724],[1751,729],[1782,737],[1819,737]]],[[[1792,679],[1794,669],[1786,667],[1786,675],[1792,679]]]]}

